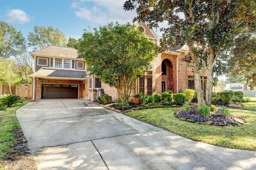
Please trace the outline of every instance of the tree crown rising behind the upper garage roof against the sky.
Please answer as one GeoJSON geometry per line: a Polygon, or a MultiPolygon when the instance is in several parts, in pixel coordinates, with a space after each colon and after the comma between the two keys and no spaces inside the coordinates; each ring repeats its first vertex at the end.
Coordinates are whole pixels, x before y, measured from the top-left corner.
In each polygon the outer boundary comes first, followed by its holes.
{"type": "Polygon", "coordinates": [[[51,26],[35,26],[33,32],[28,33],[28,46],[34,50],[42,49],[50,45],[66,46],[67,39],[63,32],[51,26]]]}

